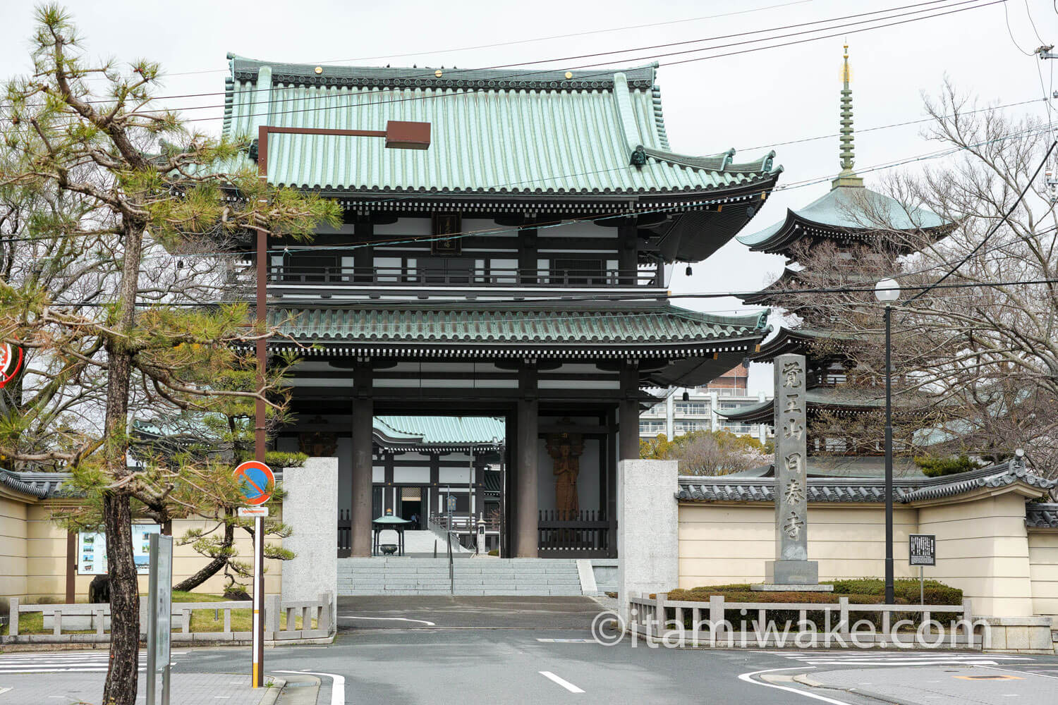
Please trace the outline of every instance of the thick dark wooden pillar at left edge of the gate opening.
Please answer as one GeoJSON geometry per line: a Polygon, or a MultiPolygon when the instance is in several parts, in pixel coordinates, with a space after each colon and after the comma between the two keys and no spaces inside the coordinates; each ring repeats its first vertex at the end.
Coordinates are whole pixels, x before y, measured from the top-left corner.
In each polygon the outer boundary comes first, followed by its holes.
{"type": "Polygon", "coordinates": [[[360,358],[353,368],[352,395],[352,556],[371,555],[371,363],[360,358]]]}

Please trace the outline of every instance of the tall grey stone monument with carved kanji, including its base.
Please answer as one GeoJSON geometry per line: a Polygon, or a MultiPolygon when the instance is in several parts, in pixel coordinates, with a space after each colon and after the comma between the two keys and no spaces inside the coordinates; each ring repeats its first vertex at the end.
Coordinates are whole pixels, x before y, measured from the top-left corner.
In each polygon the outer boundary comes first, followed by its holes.
{"type": "Polygon", "coordinates": [[[779,355],[776,383],[776,559],[765,567],[764,586],[819,586],[819,564],[808,560],[808,453],[805,424],[804,355],[779,355]]]}

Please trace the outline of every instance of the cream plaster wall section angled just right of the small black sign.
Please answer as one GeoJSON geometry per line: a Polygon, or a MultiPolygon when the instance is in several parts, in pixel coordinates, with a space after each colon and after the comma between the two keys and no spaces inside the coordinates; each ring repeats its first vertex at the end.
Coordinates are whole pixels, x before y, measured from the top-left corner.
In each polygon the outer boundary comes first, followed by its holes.
{"type": "Polygon", "coordinates": [[[1025,498],[1018,493],[924,506],[923,534],[936,535],[932,577],[973,600],[974,614],[1033,614],[1025,498]]]}

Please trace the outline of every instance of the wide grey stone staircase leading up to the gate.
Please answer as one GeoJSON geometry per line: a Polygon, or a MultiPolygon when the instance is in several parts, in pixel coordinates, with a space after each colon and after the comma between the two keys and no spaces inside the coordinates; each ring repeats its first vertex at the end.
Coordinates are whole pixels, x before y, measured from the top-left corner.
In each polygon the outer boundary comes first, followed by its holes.
{"type": "MultiPolygon", "coordinates": [[[[453,561],[456,595],[581,595],[570,558],[461,558],[453,561]]],[[[444,558],[339,558],[339,595],[450,595],[444,558]]]]}

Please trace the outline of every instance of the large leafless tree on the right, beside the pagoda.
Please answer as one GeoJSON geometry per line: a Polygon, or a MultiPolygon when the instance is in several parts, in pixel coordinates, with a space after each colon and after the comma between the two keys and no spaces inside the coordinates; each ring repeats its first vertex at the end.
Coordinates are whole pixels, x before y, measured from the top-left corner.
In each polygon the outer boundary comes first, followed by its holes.
{"type": "MultiPolygon", "coordinates": [[[[1058,477],[1058,217],[1041,178],[1053,136],[1034,117],[978,112],[951,85],[926,107],[934,120],[928,136],[951,159],[898,174],[886,190],[906,214],[925,208],[948,225],[897,230],[864,199],[858,218],[874,241],[806,245],[796,285],[815,293],[789,297],[790,312],[835,333],[815,353],[842,360],[850,393],[880,403],[882,309],[871,290],[896,277],[899,449],[999,461],[1020,447],[1038,470],[1058,477]],[[818,291],[827,289],[841,291],[818,291]]],[[[880,413],[821,419],[816,435],[876,448],[881,424],[880,413]]]]}

